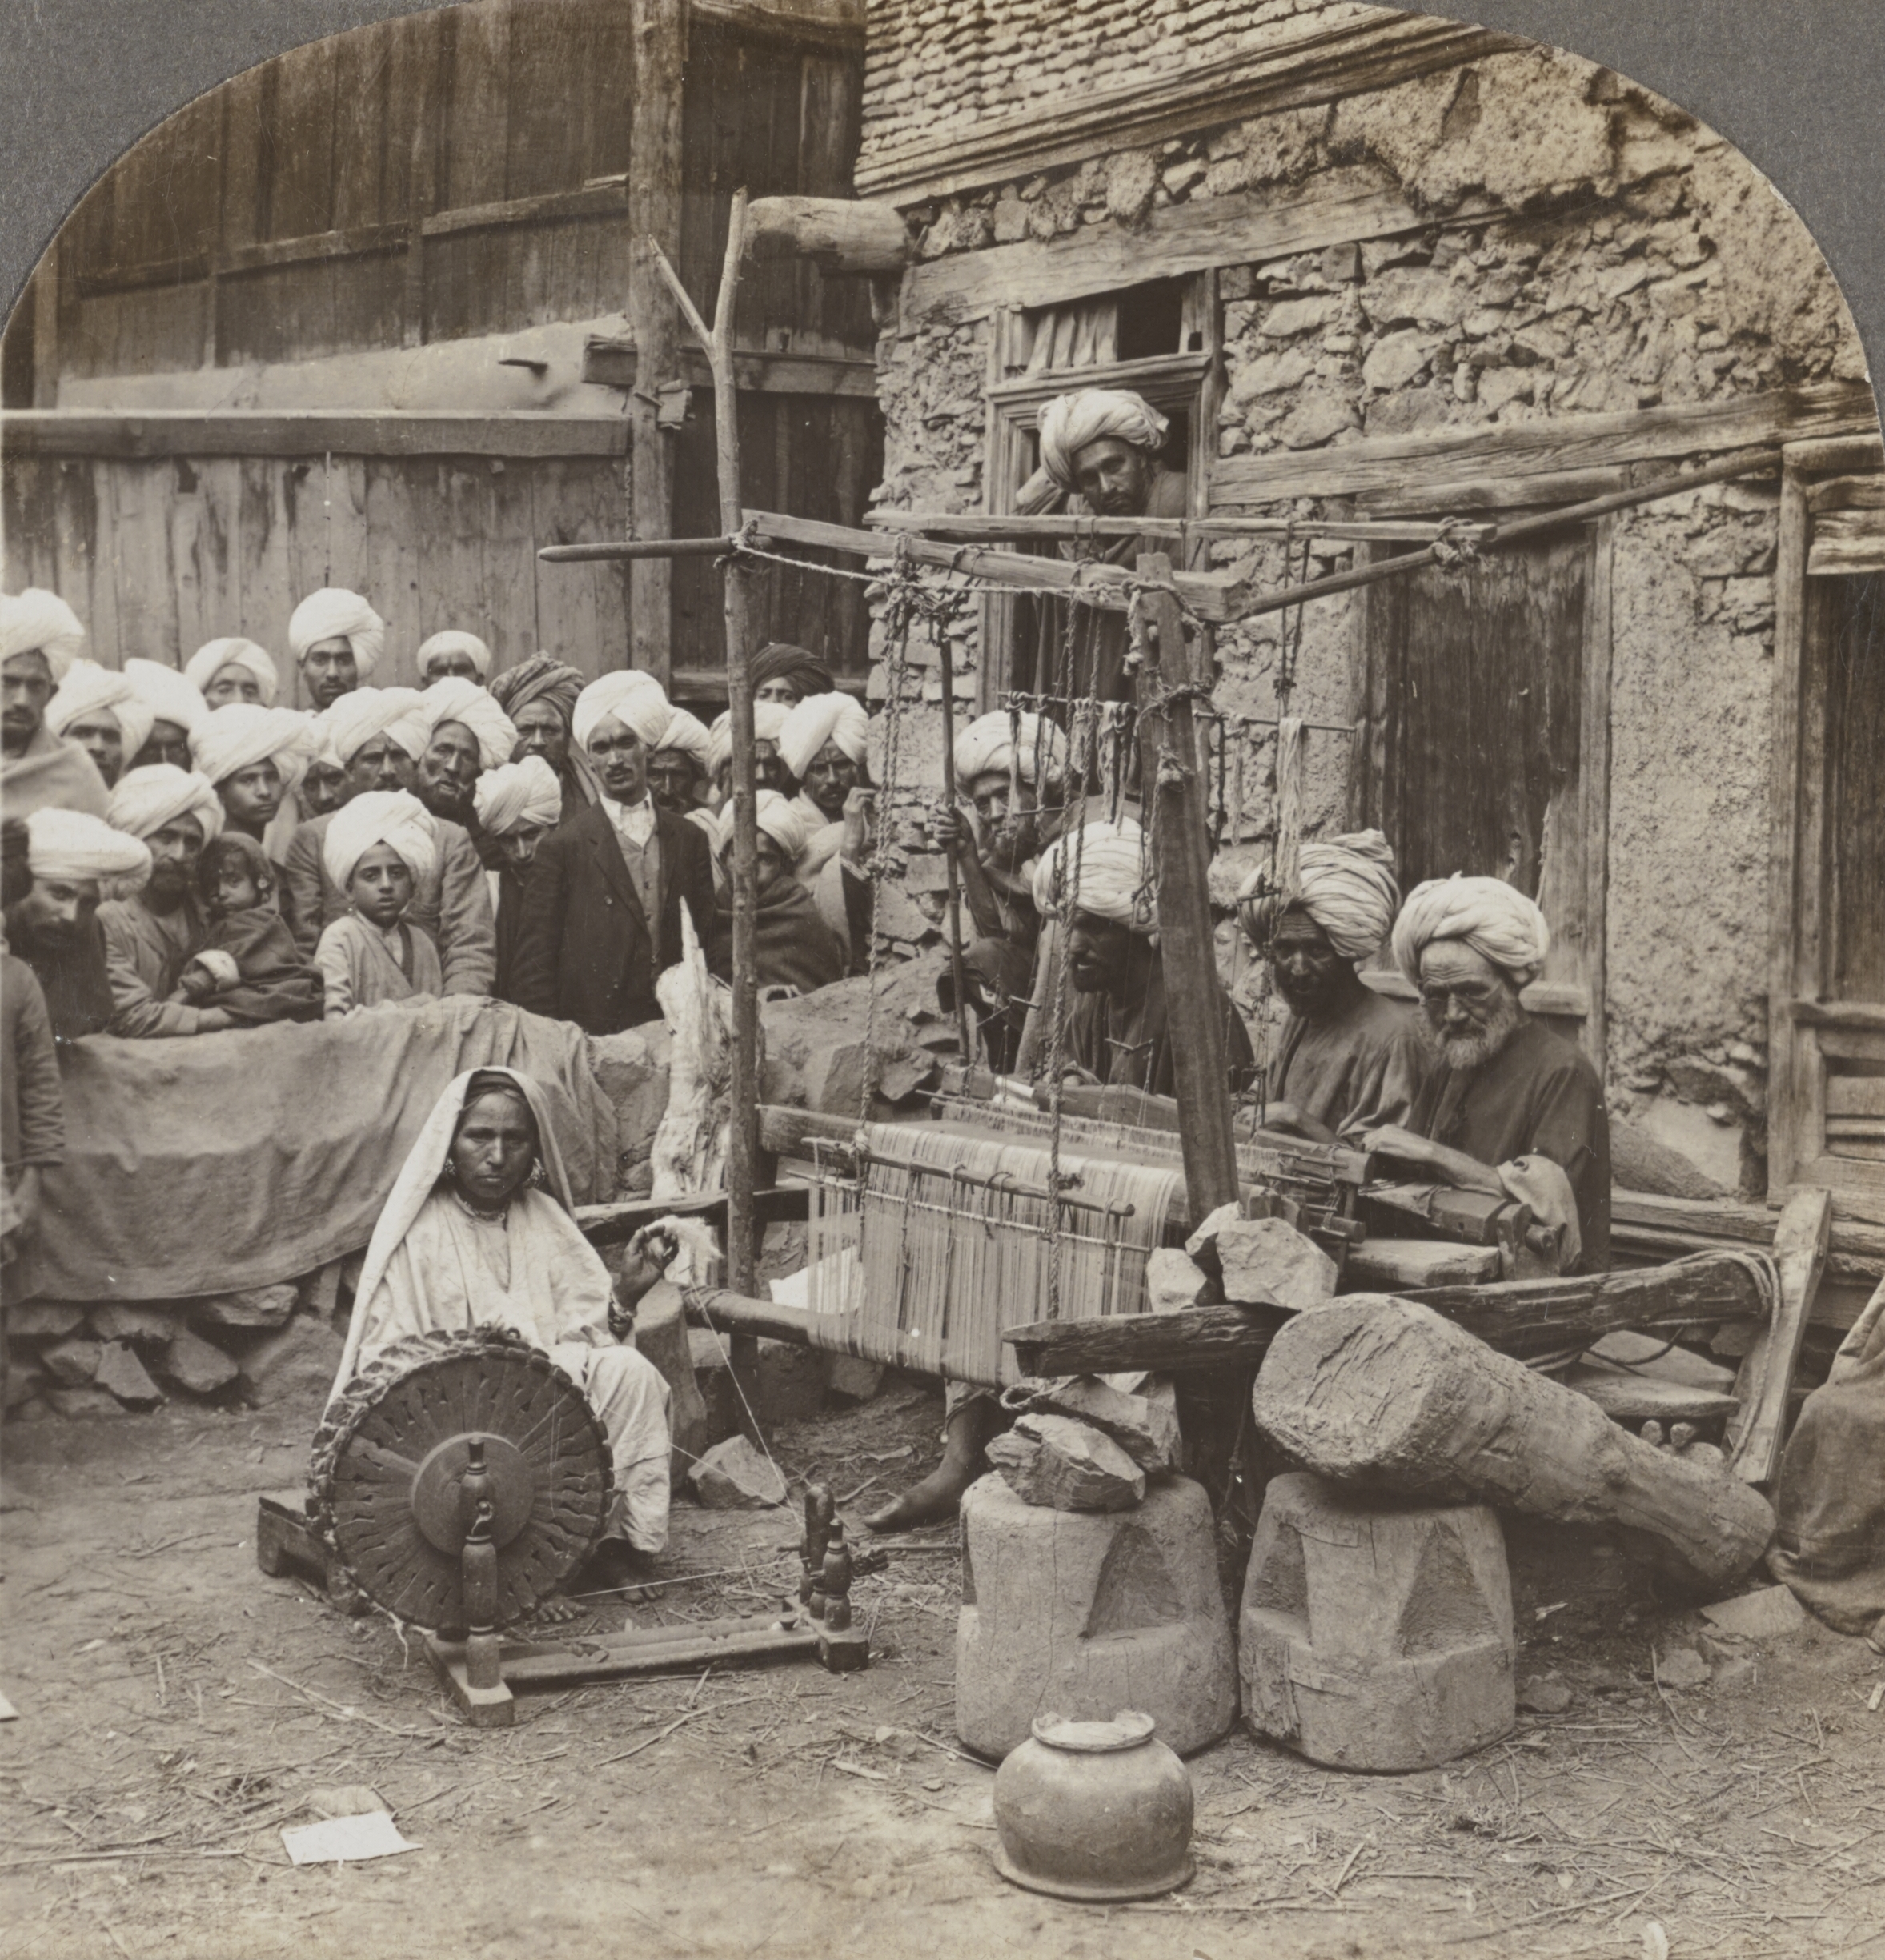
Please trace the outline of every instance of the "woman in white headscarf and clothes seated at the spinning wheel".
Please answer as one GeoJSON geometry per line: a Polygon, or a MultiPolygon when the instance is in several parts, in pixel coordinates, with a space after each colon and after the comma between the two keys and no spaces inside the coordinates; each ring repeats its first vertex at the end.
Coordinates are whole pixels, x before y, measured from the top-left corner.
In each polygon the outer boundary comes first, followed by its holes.
{"type": "Polygon", "coordinates": [[[523,1335],[609,1439],[615,1490],[588,1574],[619,1586],[668,1543],[670,1396],[615,1339],[611,1303],[609,1272],[570,1215],[549,1092],[513,1068],[474,1068],[439,1098],[372,1229],[333,1394],[410,1335],[523,1335]]]}

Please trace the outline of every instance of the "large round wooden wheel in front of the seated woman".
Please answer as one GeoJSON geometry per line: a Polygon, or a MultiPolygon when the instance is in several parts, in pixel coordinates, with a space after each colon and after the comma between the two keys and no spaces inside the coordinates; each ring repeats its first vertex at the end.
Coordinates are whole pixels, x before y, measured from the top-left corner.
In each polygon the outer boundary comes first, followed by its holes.
{"type": "Polygon", "coordinates": [[[349,1578],[462,1639],[531,1613],[602,1535],[609,1450],[582,1390],[496,1327],[374,1356],[314,1441],[314,1515],[349,1578]]]}

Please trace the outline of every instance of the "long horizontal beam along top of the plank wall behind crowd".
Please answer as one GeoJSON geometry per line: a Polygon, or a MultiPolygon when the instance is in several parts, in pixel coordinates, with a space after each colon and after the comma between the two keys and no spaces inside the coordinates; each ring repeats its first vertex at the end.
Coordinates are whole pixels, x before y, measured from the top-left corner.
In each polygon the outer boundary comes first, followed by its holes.
{"type": "Polygon", "coordinates": [[[615,416],[511,410],[22,410],[0,421],[12,457],[619,457],[615,416]]]}

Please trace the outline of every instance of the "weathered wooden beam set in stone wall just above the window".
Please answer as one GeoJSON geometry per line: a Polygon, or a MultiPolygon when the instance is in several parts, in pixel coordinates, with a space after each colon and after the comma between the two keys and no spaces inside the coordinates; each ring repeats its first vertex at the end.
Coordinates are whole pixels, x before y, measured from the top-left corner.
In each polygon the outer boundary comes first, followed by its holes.
{"type": "MultiPolygon", "coordinates": [[[[1107,145],[1111,147],[1111,145],[1107,145]]],[[[1487,218],[1495,216],[1491,210],[1487,218]]],[[[1266,204],[1234,194],[1152,212],[1135,231],[1113,220],[1064,239],[1027,239],[927,259],[903,274],[899,325],[962,325],[997,306],[1064,306],[1148,278],[1178,278],[1217,265],[1248,265],[1419,231],[1430,220],[1397,192],[1266,204]]],[[[1460,223],[1450,218],[1448,223],[1460,223]]],[[[1234,459],[1232,459],[1234,463],[1234,459]]],[[[1219,470],[1231,465],[1217,465],[1219,470]]]]}

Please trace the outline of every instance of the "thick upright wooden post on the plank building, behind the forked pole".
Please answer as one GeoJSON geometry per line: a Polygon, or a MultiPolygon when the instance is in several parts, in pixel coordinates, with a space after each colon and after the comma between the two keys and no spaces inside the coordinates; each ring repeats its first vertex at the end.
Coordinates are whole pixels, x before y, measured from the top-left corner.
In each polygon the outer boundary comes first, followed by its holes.
{"type": "MultiPolygon", "coordinates": [[[[674,531],[674,437],[656,427],[662,382],[680,378],[680,333],[652,251],[680,253],[680,122],[688,61],[686,0],[631,0],[635,102],[629,118],[629,529],[674,531]]],[[[629,664],[662,686],[672,672],[674,568],[666,557],[635,563],[629,578],[629,664]]]]}

